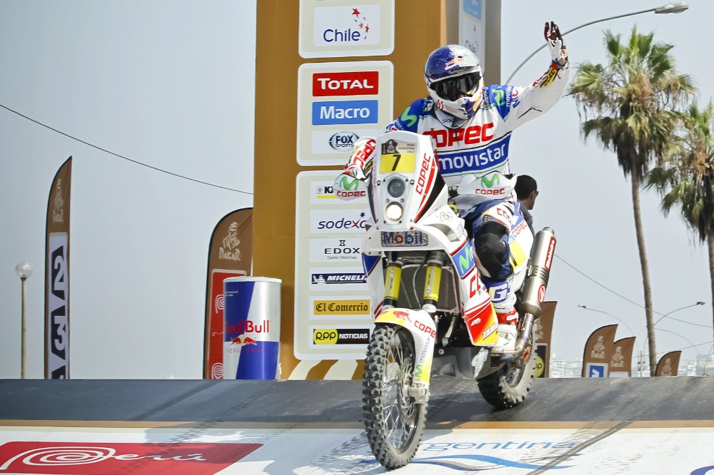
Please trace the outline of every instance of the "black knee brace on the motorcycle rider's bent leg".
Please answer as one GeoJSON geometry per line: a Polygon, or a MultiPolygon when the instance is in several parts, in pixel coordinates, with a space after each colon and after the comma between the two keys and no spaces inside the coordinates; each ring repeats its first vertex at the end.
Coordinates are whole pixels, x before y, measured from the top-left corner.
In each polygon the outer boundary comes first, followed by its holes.
{"type": "Polygon", "coordinates": [[[508,229],[496,221],[487,221],[474,226],[473,250],[476,252],[481,271],[492,279],[503,280],[513,274],[509,258],[508,229]]]}

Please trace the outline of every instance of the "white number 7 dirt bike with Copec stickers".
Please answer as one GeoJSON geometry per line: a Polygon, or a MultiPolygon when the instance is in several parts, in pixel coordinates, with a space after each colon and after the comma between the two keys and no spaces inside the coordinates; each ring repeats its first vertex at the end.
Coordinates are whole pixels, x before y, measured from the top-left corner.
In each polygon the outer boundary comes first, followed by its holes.
{"type": "Polygon", "coordinates": [[[366,226],[363,262],[375,328],[365,361],[364,422],[376,459],[397,469],[411,461],[421,440],[432,373],[476,378],[483,398],[497,408],[526,398],[533,322],[548,285],[555,236],[544,228],[534,242],[514,213],[518,339],[515,352],[491,354],[498,342],[496,313],[464,221],[448,205],[448,187],[427,136],[392,131],[376,139],[368,198],[373,219],[366,226]]]}

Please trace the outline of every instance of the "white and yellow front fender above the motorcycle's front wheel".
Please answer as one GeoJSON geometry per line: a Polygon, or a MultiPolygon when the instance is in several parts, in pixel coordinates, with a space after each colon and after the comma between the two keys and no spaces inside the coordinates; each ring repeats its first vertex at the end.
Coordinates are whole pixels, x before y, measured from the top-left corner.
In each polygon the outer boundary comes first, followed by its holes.
{"type": "Polygon", "coordinates": [[[391,308],[382,312],[375,323],[386,323],[406,328],[414,339],[414,384],[428,387],[431,377],[431,362],[434,356],[436,342],[436,325],[424,310],[409,310],[406,308],[391,308]]]}

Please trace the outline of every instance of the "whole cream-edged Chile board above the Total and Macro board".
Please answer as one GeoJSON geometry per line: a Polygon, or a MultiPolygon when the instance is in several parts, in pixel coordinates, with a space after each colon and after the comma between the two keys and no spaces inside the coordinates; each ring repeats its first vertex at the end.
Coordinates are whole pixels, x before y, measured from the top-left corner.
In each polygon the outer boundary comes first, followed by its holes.
{"type": "Polygon", "coordinates": [[[386,56],[394,51],[394,0],[301,0],[303,58],[386,56]]]}

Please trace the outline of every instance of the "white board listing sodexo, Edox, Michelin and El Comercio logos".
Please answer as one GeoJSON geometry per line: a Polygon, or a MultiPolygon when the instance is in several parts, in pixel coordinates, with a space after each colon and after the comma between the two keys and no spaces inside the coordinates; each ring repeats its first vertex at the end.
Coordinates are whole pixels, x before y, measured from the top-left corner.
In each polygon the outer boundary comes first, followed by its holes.
{"type": "Polygon", "coordinates": [[[303,171],[296,179],[292,339],[298,359],[363,359],[363,347],[315,344],[310,329],[372,324],[362,265],[368,205],[364,198],[336,198],[337,173],[303,171]]]}

